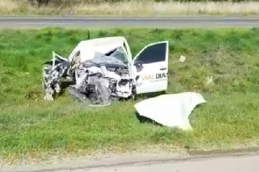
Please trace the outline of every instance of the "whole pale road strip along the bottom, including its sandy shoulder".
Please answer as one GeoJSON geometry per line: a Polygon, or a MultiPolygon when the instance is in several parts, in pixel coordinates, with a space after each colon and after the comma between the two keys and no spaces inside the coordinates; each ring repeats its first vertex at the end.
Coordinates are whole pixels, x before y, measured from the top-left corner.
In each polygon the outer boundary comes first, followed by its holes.
{"type": "Polygon", "coordinates": [[[56,165],[3,166],[2,172],[258,172],[258,154],[193,158],[118,156],[99,160],[65,161],[56,165]]]}

